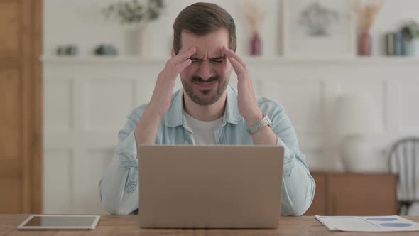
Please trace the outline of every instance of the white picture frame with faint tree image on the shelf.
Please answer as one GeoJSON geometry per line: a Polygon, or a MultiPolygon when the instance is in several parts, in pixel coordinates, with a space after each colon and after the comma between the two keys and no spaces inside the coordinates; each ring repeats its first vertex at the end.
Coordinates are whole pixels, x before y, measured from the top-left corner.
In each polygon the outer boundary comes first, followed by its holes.
{"type": "Polygon", "coordinates": [[[285,58],[353,58],[357,55],[352,0],[282,0],[285,58]]]}

